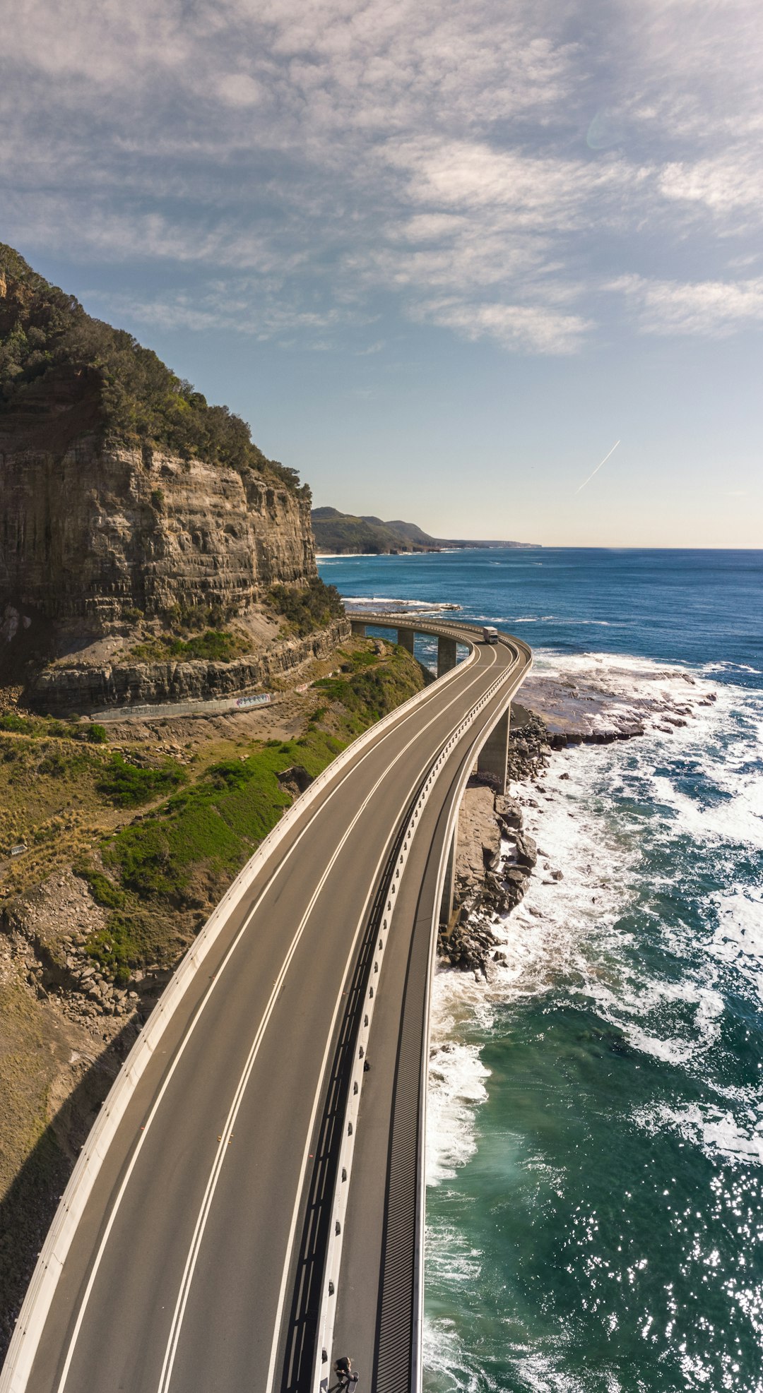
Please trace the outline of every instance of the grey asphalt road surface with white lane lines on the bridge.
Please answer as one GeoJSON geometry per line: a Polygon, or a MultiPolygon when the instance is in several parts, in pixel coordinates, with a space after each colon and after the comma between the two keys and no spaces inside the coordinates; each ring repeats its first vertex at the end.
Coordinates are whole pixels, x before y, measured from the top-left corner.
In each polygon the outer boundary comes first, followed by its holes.
{"type": "MultiPolygon", "coordinates": [[[[474,637],[448,630],[460,641],[474,637]]],[[[305,1279],[301,1245],[315,1205],[322,1241],[326,1194],[317,1188],[329,1184],[331,1166],[317,1183],[315,1158],[374,896],[411,798],[452,730],[501,670],[512,669],[513,691],[529,666],[523,645],[480,645],[477,655],[338,770],[232,911],[107,1151],[56,1287],[29,1393],[310,1387],[321,1273],[318,1261],[305,1279]]],[[[402,1272],[407,1290],[416,1262],[403,1251],[407,1220],[395,1229],[396,1155],[413,1096],[400,1049],[420,1056],[425,1041],[421,993],[444,819],[506,691],[438,776],[382,967],[328,1351],[331,1367],[350,1346],[365,1371],[361,1389],[379,1393],[411,1378],[410,1360],[398,1361],[385,1346],[391,1277],[402,1272]]]]}

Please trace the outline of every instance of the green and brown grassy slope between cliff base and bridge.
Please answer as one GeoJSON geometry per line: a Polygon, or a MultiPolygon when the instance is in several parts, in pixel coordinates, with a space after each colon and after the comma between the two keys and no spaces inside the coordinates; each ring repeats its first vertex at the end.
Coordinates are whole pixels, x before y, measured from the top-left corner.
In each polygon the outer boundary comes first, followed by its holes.
{"type": "Polygon", "coordinates": [[[160,748],[49,740],[53,723],[42,717],[32,736],[0,730],[0,857],[14,843],[29,846],[8,866],[8,889],[74,865],[109,911],[89,944],[107,972],[124,985],[146,961],[169,967],[290,804],[279,773],[299,765],[315,777],[423,684],[405,649],[386,646],[379,656],[353,639],[336,657],[346,670],[315,684],[297,738],[225,749],[211,741],[186,766],[160,748]]]}

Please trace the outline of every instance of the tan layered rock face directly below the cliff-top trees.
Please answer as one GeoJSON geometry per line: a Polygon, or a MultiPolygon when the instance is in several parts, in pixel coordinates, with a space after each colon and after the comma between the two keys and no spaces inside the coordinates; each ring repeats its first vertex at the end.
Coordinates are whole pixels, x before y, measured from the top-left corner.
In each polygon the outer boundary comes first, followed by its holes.
{"type": "Polygon", "coordinates": [[[251,469],[144,447],[0,447],[0,600],[95,627],[179,607],[244,613],[315,575],[310,500],[251,469]]]}

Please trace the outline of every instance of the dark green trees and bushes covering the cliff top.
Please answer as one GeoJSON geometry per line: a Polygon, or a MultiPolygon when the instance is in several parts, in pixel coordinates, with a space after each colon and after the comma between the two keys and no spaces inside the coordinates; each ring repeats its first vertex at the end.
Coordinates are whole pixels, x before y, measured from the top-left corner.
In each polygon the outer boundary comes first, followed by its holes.
{"type": "Polygon", "coordinates": [[[209,407],[151,348],[85,313],[74,295],[0,242],[0,421],[32,401],[39,410],[46,387],[53,393],[61,376],[74,379],[85,369],[98,383],[107,435],[184,458],[257,469],[297,490],[297,472],[268,460],[241,417],[227,407],[209,407]]]}

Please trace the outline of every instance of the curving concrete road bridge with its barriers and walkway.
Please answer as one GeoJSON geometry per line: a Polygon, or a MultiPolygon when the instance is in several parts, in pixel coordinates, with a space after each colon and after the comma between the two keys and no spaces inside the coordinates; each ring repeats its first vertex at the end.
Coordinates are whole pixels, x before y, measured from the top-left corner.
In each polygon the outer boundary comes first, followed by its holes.
{"type": "Polygon", "coordinates": [[[421,1383],[430,982],[474,763],[505,786],[531,655],[466,624],[232,885],[106,1099],[0,1393],[321,1393],[421,1383]],[[458,645],[467,656],[456,663],[458,645]]]}

